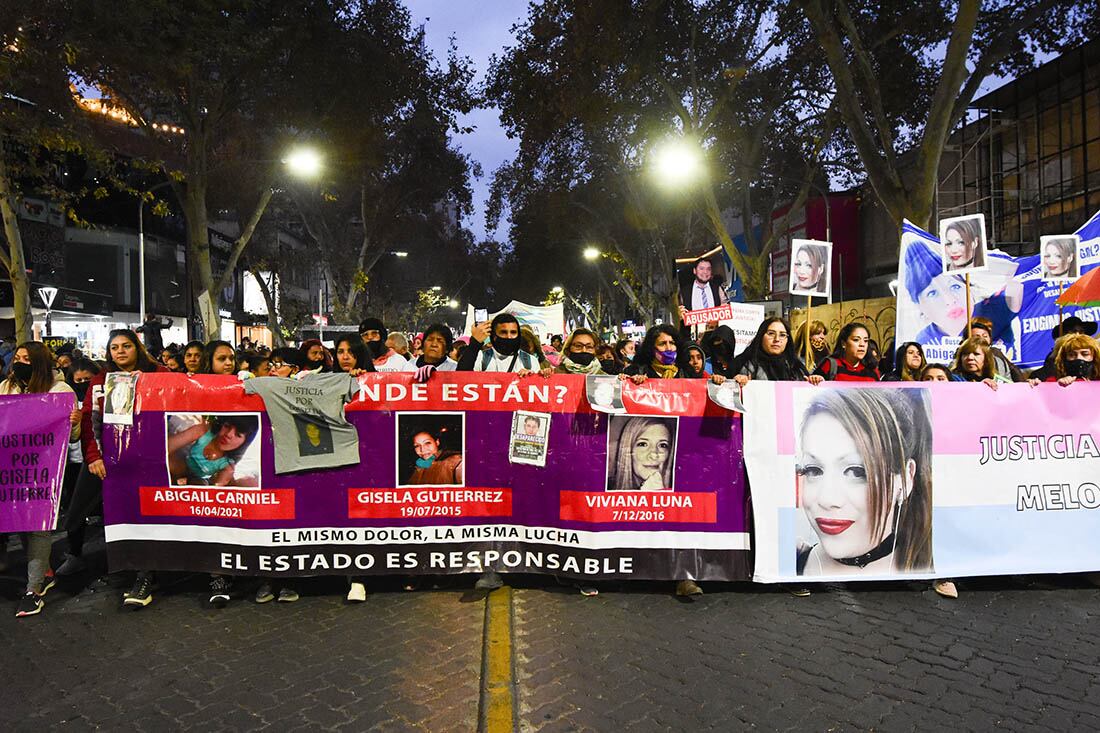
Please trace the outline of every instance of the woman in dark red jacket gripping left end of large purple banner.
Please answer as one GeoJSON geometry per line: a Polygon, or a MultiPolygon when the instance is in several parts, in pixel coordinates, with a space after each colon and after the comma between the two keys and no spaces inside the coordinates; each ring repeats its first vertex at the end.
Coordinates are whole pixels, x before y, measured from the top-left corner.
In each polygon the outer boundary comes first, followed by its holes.
{"type": "MultiPolygon", "coordinates": [[[[107,340],[107,368],[96,374],[88,383],[88,394],[84,400],[80,424],[80,442],[84,448],[84,469],[77,478],[73,490],[73,501],[69,503],[65,517],[65,529],[68,532],[69,551],[65,562],[57,568],[57,575],[68,576],[79,572],[86,567],[84,561],[85,524],[90,511],[102,500],[103,479],[107,478],[107,464],[103,462],[103,385],[107,375],[113,372],[167,372],[157,364],[138,335],[128,329],[112,330],[107,340]]],[[[133,588],[123,594],[123,603],[129,608],[140,609],[153,600],[153,573],[147,570],[138,572],[133,588]]]]}

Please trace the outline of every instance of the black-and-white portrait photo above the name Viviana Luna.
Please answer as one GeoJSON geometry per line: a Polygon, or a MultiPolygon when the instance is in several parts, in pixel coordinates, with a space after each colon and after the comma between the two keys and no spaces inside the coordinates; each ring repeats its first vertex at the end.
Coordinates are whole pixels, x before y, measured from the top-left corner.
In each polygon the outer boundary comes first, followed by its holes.
{"type": "Polygon", "coordinates": [[[607,426],[607,491],[672,491],[676,418],[613,416],[607,426]]]}

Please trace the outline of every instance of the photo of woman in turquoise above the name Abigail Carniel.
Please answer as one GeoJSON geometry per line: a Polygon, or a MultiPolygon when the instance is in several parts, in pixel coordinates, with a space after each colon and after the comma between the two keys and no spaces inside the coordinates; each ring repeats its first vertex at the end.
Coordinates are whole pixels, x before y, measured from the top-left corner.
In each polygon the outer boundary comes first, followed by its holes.
{"type": "Polygon", "coordinates": [[[165,424],[173,485],[260,485],[258,415],[168,413],[165,424]]]}

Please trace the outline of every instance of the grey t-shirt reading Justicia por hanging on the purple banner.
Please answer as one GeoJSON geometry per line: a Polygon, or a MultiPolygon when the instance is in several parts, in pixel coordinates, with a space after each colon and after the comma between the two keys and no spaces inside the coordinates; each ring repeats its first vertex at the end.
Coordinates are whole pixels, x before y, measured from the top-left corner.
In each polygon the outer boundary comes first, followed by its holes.
{"type": "Polygon", "coordinates": [[[245,394],[264,400],[275,441],[275,472],[293,473],[359,462],[359,433],[343,415],[359,391],[345,373],[310,374],[300,380],[257,376],[244,381],[245,394]]]}

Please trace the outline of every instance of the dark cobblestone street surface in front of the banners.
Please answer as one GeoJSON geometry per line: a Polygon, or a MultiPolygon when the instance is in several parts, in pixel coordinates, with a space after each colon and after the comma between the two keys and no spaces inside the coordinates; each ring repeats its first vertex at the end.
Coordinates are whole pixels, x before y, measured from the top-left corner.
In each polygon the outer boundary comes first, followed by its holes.
{"type": "MultiPolygon", "coordinates": [[[[486,614],[472,578],[416,592],[387,580],[354,606],[340,580],[265,605],[241,581],[216,611],[204,577],[165,576],[136,613],[120,606],[122,578],[74,579],[15,619],[18,559],[0,615],[3,730],[479,729],[486,614]]],[[[584,598],[514,581],[521,731],[1100,730],[1097,591],[1078,576],[963,581],[957,601],[924,583],[804,599],[712,583],[684,603],[671,584],[584,598]]]]}

